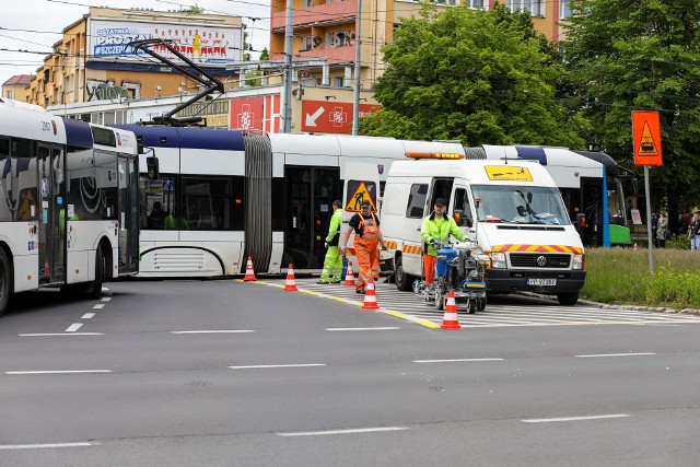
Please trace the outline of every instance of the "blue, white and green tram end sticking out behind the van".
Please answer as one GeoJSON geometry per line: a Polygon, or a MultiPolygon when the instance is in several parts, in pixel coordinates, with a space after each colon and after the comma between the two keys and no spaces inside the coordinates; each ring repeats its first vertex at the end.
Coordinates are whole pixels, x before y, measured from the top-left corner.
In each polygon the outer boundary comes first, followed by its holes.
{"type": "Polygon", "coordinates": [[[584,246],[632,246],[623,182],[637,191],[634,174],[604,152],[534,145],[465,148],[468,159],[538,161],[561,192],[584,246]],[[603,200],[605,199],[605,202],[603,200]]]}

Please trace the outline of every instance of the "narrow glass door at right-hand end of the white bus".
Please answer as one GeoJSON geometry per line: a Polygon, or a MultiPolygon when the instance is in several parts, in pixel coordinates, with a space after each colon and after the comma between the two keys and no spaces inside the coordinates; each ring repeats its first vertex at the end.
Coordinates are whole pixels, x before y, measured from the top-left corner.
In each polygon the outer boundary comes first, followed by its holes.
{"type": "Polygon", "coordinates": [[[119,275],[139,271],[139,167],[136,161],[133,156],[118,156],[119,275]]]}

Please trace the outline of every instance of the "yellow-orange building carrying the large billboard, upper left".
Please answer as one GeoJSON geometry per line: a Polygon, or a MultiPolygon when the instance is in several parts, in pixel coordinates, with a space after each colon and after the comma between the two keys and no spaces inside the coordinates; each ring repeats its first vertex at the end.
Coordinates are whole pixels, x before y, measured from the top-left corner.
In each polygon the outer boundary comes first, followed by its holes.
{"type": "MultiPolygon", "coordinates": [[[[226,68],[243,58],[240,16],[91,7],[62,33],[30,83],[26,101],[32,104],[48,107],[198,91],[196,81],[172,67],[133,54],[127,44],[136,39],[172,40],[179,52],[226,87],[238,85],[237,72],[226,68]]],[[[158,51],[185,65],[167,49],[158,51]]]]}

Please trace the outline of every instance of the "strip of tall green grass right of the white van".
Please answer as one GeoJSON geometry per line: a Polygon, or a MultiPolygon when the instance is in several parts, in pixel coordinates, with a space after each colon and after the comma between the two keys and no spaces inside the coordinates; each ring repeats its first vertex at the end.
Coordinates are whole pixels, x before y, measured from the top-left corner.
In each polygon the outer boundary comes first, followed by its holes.
{"type": "Polygon", "coordinates": [[[581,296],[602,303],[700,307],[700,252],[655,248],[653,255],[651,273],[646,249],[586,249],[581,296]]]}

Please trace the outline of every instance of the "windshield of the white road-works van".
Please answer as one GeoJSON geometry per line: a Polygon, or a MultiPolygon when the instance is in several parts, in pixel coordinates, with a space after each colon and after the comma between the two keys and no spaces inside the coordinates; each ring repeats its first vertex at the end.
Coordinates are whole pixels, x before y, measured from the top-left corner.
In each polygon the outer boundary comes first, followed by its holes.
{"type": "Polygon", "coordinates": [[[509,185],[471,187],[481,222],[557,224],[571,222],[557,188],[509,185]]]}

